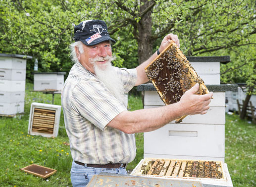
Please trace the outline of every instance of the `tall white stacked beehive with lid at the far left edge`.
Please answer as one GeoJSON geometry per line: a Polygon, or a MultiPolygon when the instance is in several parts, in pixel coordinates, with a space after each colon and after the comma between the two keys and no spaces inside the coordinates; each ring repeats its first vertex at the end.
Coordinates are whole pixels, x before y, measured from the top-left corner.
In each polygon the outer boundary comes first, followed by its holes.
{"type": "Polygon", "coordinates": [[[24,112],[27,62],[22,57],[0,54],[0,115],[24,112]]]}

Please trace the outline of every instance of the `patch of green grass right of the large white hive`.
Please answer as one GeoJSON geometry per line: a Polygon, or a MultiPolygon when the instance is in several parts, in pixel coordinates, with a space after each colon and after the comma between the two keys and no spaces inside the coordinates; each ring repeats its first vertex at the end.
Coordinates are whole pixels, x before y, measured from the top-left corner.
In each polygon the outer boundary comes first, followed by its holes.
{"type": "Polygon", "coordinates": [[[226,115],[225,163],[234,187],[256,187],[256,124],[226,115]]]}

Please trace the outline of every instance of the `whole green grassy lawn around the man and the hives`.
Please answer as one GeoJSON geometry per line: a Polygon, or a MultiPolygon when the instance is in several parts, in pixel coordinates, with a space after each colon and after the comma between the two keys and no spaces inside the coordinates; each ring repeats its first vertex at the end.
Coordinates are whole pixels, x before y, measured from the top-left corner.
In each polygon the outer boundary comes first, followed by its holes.
{"type": "MultiPolygon", "coordinates": [[[[51,94],[30,92],[33,85],[26,84],[25,114],[21,118],[0,117],[0,187],[71,187],[72,158],[64,128],[63,113],[57,138],[28,135],[28,121],[32,102],[51,104],[51,94]],[[20,170],[32,163],[56,169],[47,180],[20,170]]],[[[54,97],[60,105],[60,95],[54,97]]],[[[130,110],[142,108],[139,96],[129,96],[130,110]]],[[[256,125],[240,120],[237,115],[226,115],[225,163],[234,187],[256,186],[256,125]]],[[[136,134],[137,156],[127,170],[143,158],[143,133],[136,134]]]]}

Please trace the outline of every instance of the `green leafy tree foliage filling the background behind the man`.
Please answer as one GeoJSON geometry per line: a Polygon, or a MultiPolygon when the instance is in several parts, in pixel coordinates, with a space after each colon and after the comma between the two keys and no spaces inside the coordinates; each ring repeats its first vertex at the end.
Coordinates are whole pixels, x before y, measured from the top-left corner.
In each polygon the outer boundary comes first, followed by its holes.
{"type": "MultiPolygon", "coordinates": [[[[138,28],[143,18],[151,16],[152,33],[147,40],[154,43],[152,51],[167,33],[177,34],[187,56],[230,55],[231,63],[221,66],[223,83],[246,82],[255,87],[255,7],[255,0],[4,0],[0,52],[31,55],[39,60],[41,72],[68,72],[73,26],[102,19],[117,41],[113,64],[134,68],[138,51],[144,50],[138,50],[139,37],[149,34],[138,28]],[[141,9],[145,4],[148,7],[141,9]]],[[[27,70],[31,78],[33,65],[27,70]]]]}

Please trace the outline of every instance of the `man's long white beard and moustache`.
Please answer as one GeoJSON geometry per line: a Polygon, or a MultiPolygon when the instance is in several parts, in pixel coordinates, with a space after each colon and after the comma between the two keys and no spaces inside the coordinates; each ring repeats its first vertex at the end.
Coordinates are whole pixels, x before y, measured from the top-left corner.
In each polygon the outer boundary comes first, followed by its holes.
{"type": "Polygon", "coordinates": [[[117,76],[116,71],[114,71],[114,67],[111,64],[111,61],[114,59],[115,57],[106,56],[104,58],[96,57],[94,59],[89,59],[89,61],[94,66],[95,75],[100,79],[100,81],[102,81],[103,84],[105,84],[107,89],[115,96],[115,98],[124,103],[125,98],[123,85],[120,81],[120,78],[117,76]],[[104,64],[96,62],[103,60],[107,60],[107,62],[104,64]]]}

